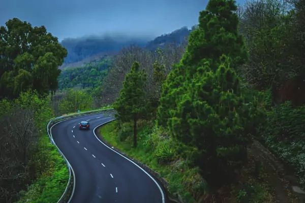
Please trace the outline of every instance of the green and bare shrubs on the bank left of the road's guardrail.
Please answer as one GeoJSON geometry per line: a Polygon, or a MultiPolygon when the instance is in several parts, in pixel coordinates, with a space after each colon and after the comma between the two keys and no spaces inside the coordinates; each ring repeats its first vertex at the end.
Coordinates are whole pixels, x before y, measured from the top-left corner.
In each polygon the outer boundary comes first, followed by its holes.
{"type": "Polygon", "coordinates": [[[56,202],[65,191],[69,172],[46,134],[53,117],[49,97],[26,91],[0,101],[1,196],[4,202],[56,202]]]}

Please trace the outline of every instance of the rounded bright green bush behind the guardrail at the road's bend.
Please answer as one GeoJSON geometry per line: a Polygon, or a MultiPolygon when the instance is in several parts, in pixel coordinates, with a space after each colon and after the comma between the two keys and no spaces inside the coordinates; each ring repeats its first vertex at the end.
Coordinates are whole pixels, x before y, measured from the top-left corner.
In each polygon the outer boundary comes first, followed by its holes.
{"type": "Polygon", "coordinates": [[[62,114],[84,111],[92,108],[93,98],[83,90],[69,89],[62,100],[60,100],[58,109],[62,114]]]}

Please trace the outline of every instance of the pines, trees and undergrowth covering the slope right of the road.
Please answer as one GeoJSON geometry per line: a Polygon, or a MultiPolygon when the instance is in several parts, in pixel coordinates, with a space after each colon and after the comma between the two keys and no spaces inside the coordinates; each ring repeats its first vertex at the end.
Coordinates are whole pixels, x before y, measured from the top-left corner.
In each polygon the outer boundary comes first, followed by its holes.
{"type": "Polygon", "coordinates": [[[303,124],[298,122],[304,119],[305,99],[297,95],[304,91],[303,3],[249,1],[237,8],[234,1],[210,0],[179,62],[168,69],[157,61],[152,85],[128,86],[146,91],[144,97],[128,93],[126,84],[137,84],[151,69],[140,63],[138,76],[130,78],[131,65],[114,103],[113,132],[102,127],[102,138],[159,172],[171,193],[186,202],[275,201],[275,183],[264,180],[270,172],[249,151],[253,139],[291,165],[302,183],[303,124]],[[160,75],[166,79],[158,81],[160,75]],[[183,191],[172,190],[176,183],[170,177],[179,174],[172,164],[180,161],[186,169],[177,179],[183,191]],[[162,171],[167,167],[172,170],[162,171]],[[186,181],[188,175],[193,182],[186,181]]]}

